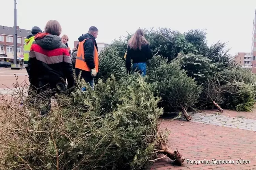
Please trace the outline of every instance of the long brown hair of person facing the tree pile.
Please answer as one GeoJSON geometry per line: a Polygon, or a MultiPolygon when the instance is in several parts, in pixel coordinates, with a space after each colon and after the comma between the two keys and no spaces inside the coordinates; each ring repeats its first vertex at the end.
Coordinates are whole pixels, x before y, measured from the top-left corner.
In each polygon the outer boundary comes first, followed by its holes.
{"type": "Polygon", "coordinates": [[[148,44],[148,41],[144,37],[144,31],[142,29],[138,29],[128,41],[128,47],[133,50],[141,50],[141,46],[145,44],[148,44]]]}

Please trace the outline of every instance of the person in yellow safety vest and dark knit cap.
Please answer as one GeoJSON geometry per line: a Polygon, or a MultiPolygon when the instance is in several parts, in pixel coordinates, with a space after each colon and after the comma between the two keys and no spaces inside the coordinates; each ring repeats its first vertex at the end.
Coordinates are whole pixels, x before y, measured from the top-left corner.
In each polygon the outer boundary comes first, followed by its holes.
{"type": "MultiPolygon", "coordinates": [[[[25,65],[25,68],[27,70],[27,73],[28,75],[29,74],[29,68],[28,68],[28,58],[29,58],[29,51],[30,51],[30,48],[31,48],[31,45],[34,41],[34,36],[37,34],[37,33],[41,33],[42,30],[37,27],[37,26],[34,26],[32,28],[32,31],[31,31],[31,34],[29,36],[27,36],[27,38],[25,38],[25,45],[24,45],[24,65],[25,65]]],[[[38,85],[37,84],[33,84],[31,81],[30,81],[30,78],[28,77],[29,79],[29,82],[30,82],[30,86],[29,86],[29,90],[28,90],[28,97],[33,95],[33,94],[37,94],[37,87],[38,85]]],[[[32,100],[30,101],[32,103],[32,100]]]]}

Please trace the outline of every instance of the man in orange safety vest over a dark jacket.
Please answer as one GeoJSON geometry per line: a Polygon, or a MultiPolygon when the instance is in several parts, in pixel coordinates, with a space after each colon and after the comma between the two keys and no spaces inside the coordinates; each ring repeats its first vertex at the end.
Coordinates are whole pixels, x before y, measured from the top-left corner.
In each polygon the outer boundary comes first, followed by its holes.
{"type": "MultiPolygon", "coordinates": [[[[76,75],[78,76],[82,71],[81,77],[90,84],[92,89],[94,89],[94,77],[99,71],[98,46],[95,40],[98,32],[99,30],[92,26],[88,33],[78,38],[79,46],[75,62],[76,75]]],[[[82,91],[85,90],[86,88],[83,87],[82,91]]]]}

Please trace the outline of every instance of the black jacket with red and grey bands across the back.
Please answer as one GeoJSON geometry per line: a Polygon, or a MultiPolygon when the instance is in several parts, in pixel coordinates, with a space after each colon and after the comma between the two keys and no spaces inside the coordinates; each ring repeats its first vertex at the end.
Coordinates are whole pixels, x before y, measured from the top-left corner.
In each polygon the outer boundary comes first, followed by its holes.
{"type": "Polygon", "coordinates": [[[39,81],[56,84],[67,78],[68,87],[74,85],[73,68],[67,46],[61,38],[48,33],[35,35],[29,52],[29,78],[31,84],[39,81]]]}

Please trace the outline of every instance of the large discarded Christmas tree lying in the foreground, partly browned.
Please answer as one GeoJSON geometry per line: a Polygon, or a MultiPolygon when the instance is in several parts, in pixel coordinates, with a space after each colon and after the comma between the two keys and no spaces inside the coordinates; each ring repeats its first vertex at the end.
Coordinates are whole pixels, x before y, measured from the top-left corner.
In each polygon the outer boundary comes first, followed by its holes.
{"type": "Polygon", "coordinates": [[[184,157],[171,150],[168,134],[158,128],[163,109],[153,86],[139,74],[119,73],[99,79],[94,90],[77,81],[70,95],[56,96],[58,104],[43,119],[37,117],[36,103],[25,102],[18,109],[13,101],[6,102],[8,107],[1,108],[0,168],[138,170],[163,157],[181,165],[184,157]],[[82,92],[84,86],[87,91],[82,92]]]}

